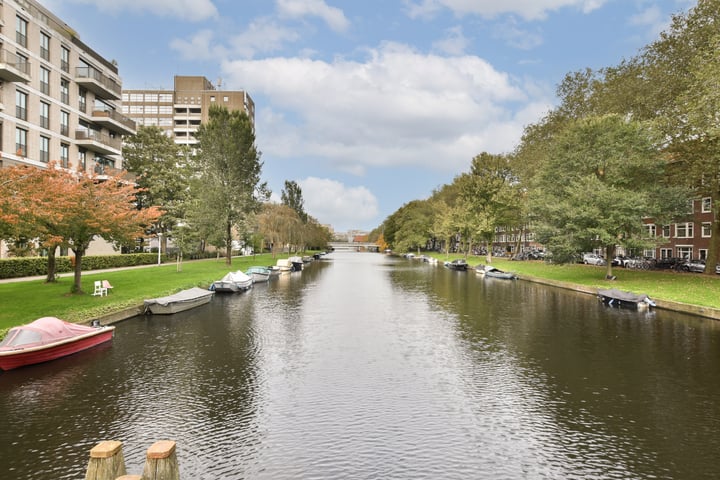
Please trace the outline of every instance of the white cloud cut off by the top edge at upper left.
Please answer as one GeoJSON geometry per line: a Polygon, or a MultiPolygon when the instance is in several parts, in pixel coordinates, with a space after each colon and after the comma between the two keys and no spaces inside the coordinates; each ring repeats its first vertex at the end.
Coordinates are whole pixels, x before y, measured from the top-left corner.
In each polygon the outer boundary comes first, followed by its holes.
{"type": "MultiPolygon", "coordinates": [[[[45,6],[54,10],[51,3],[45,6]]],[[[148,12],[160,17],[176,17],[193,22],[218,17],[218,10],[212,0],[63,0],[63,3],[92,5],[101,12],[148,12]]]]}

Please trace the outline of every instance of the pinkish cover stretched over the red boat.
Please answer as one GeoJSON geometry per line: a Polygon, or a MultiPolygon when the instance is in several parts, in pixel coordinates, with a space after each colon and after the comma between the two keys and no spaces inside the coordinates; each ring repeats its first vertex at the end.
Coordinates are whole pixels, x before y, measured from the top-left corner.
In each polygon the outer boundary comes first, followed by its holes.
{"type": "Polygon", "coordinates": [[[96,327],[65,322],[55,317],[42,317],[27,325],[11,328],[0,343],[0,351],[46,345],[96,330],[96,327]]]}

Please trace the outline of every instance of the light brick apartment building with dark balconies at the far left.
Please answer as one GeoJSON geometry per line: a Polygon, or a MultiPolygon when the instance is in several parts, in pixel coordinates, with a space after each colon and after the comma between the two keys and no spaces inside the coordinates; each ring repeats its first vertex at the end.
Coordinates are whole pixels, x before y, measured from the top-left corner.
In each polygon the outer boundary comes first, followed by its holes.
{"type": "Polygon", "coordinates": [[[0,1],[0,19],[0,166],[121,170],[136,125],[120,113],[116,62],[34,0],[0,1]]]}

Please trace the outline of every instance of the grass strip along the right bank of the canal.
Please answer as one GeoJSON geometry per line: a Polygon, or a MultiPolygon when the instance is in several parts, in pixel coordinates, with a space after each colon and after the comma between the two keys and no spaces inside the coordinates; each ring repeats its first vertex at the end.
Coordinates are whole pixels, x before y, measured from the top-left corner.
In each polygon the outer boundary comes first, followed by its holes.
{"type": "MultiPolygon", "coordinates": [[[[439,260],[447,258],[438,255],[439,260]]],[[[450,260],[461,258],[451,256],[450,260]]],[[[485,257],[468,257],[468,264],[486,263],[485,257]]],[[[672,270],[633,270],[614,267],[615,280],[605,280],[605,268],[592,265],[552,265],[543,261],[511,261],[493,258],[492,265],[512,271],[520,278],[534,277],[591,288],[617,288],[646,293],[653,300],[720,309],[720,275],[675,272],[672,270]]]]}

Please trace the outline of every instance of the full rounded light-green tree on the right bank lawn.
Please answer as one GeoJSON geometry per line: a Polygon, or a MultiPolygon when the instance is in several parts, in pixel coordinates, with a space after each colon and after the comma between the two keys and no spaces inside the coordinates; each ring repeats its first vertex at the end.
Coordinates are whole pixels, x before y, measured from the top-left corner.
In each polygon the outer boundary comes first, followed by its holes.
{"type": "Polygon", "coordinates": [[[657,136],[640,122],[617,115],[577,120],[551,150],[531,197],[538,240],[554,261],[602,248],[611,277],[616,245],[645,236],[644,218],[687,209],[685,191],[666,183],[657,136]]]}

